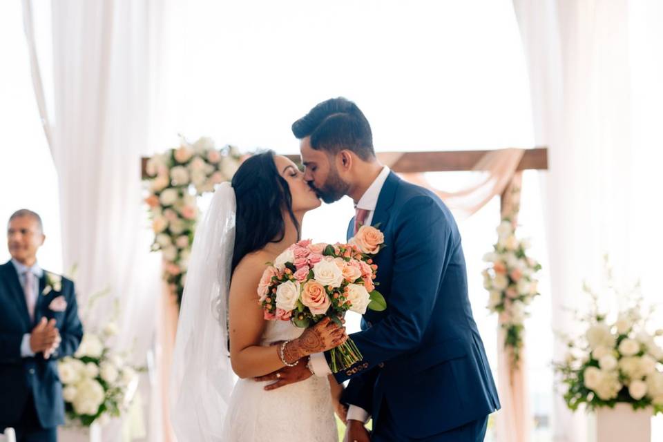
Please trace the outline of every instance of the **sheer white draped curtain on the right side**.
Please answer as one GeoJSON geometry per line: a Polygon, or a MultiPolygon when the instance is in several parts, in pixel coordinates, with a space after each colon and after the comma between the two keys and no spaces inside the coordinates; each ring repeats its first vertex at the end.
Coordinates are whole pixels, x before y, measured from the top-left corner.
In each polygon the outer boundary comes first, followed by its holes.
{"type": "MultiPolygon", "coordinates": [[[[553,325],[570,332],[564,307],[582,308],[582,282],[601,280],[604,253],[615,276],[642,278],[644,296],[660,296],[652,261],[663,240],[652,222],[660,209],[651,192],[661,189],[663,8],[646,0],[514,0],[514,6],[536,142],[550,148],[541,184],[553,325]]],[[[558,343],[555,357],[564,351],[558,343]]],[[[587,440],[586,415],[568,412],[561,393],[553,430],[554,441],[587,440]]]]}

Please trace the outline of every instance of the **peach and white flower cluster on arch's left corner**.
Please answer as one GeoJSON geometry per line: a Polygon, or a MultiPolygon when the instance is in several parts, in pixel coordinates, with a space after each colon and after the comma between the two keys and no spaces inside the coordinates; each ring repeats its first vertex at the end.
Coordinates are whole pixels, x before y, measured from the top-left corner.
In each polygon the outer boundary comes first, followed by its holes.
{"type": "Polygon", "coordinates": [[[229,181],[241,162],[233,146],[215,148],[210,138],[194,143],[180,139],[180,146],[158,153],[146,164],[152,229],[152,251],[161,251],[163,278],[171,292],[182,300],[186,269],[198,220],[196,197],[214,190],[216,184],[229,181]]]}

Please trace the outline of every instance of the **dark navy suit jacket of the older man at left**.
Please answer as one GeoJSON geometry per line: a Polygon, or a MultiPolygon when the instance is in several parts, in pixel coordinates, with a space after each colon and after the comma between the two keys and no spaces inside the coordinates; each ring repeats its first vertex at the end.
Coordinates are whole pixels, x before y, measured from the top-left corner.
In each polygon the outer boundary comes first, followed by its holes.
{"type": "Polygon", "coordinates": [[[30,320],[26,296],[12,262],[0,265],[0,430],[15,425],[25,410],[28,395],[32,395],[41,427],[50,428],[64,423],[62,385],[57,374],[57,360],[70,356],[83,337],[78,318],[74,284],[62,278],[61,291],[44,295],[46,272],[39,281],[39,295],[35,305],[35,320],[30,320]],[[64,296],[65,311],[52,311],[50,302],[64,296]],[[62,341],[49,359],[43,353],[21,357],[23,334],[32,332],[42,317],[55,319],[62,341]]]}

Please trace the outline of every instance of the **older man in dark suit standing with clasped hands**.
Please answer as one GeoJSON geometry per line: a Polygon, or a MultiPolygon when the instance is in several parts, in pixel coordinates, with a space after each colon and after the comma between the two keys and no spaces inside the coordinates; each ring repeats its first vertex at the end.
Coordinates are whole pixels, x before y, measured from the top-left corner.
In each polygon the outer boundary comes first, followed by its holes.
{"type": "Polygon", "coordinates": [[[41,218],[21,209],[9,220],[12,259],[0,265],[0,429],[17,441],[57,440],[64,423],[57,360],[76,351],[83,327],[74,284],[37,265],[41,218]]]}

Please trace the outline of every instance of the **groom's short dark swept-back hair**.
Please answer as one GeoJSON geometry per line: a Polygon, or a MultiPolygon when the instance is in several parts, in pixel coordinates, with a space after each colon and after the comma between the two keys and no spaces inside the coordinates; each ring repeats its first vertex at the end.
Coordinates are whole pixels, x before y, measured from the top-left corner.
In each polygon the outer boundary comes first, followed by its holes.
{"type": "Polygon", "coordinates": [[[311,137],[311,147],[336,153],[348,149],[362,160],[375,157],[371,125],[356,104],[343,97],[330,98],[292,124],[298,139],[311,137]]]}

